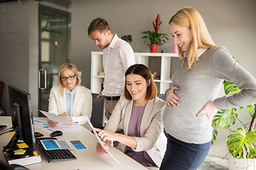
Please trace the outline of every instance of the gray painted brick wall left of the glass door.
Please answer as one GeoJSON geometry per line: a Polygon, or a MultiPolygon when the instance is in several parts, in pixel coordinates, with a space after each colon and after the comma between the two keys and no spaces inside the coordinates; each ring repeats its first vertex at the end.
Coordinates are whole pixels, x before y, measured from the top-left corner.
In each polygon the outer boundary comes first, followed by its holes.
{"type": "Polygon", "coordinates": [[[10,115],[8,84],[31,94],[33,114],[38,114],[38,8],[23,0],[0,3],[0,81],[4,81],[2,106],[10,115]]]}

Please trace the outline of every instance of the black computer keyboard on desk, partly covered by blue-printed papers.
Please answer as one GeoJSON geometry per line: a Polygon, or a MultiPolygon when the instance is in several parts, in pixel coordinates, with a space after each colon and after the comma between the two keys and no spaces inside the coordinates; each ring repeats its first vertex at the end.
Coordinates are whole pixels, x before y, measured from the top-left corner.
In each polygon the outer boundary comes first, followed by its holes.
{"type": "Polygon", "coordinates": [[[68,149],[54,149],[54,150],[44,149],[40,140],[57,140],[57,139],[55,137],[37,137],[36,138],[37,146],[49,161],[76,159],[76,157],[68,149]]]}

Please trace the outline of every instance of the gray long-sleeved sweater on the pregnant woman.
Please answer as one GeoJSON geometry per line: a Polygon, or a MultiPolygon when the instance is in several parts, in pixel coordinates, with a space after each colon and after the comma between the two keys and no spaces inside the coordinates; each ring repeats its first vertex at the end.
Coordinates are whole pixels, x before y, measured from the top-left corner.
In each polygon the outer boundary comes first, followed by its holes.
{"type": "Polygon", "coordinates": [[[214,101],[215,107],[237,108],[256,103],[256,79],[243,69],[225,47],[211,47],[188,71],[184,60],[172,77],[178,86],[179,106],[166,105],[163,120],[166,132],[187,143],[202,144],[212,139],[212,121],[206,114],[196,117],[203,106],[214,101]],[[242,91],[232,96],[216,98],[223,80],[232,81],[242,91]]]}

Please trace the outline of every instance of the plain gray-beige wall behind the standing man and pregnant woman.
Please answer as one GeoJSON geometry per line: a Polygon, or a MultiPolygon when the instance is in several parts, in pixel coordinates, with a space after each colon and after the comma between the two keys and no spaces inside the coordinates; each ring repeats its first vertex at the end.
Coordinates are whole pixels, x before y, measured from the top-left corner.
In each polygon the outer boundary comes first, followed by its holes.
{"type": "MultiPolygon", "coordinates": [[[[132,34],[134,52],[149,52],[142,40],[142,31],[153,30],[152,21],[159,13],[161,27],[159,33],[169,33],[168,21],[180,8],[196,8],[208,26],[217,45],[228,48],[230,53],[256,77],[256,1],[255,0],[74,0],[72,1],[71,61],[82,71],[82,84],[90,87],[90,52],[101,51],[88,38],[87,27],[92,19],[102,17],[110,24],[112,33],[132,34]]],[[[172,52],[172,40],[159,48],[172,52]]],[[[235,73],[234,73],[235,74],[235,73]]],[[[247,111],[240,111],[242,120],[250,121],[247,111]]],[[[223,157],[228,152],[225,138],[228,130],[220,130],[218,140],[210,153],[223,157]]]]}

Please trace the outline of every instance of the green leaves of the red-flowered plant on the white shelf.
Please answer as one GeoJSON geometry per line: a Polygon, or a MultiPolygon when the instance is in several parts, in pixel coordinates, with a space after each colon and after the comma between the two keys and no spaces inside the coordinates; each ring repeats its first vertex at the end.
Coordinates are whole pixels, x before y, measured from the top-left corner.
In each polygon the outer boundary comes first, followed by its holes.
{"type": "Polygon", "coordinates": [[[167,38],[167,34],[157,33],[156,31],[151,32],[150,30],[146,30],[142,32],[143,34],[147,34],[142,39],[149,40],[149,42],[144,41],[147,45],[149,44],[158,44],[159,46],[164,45],[166,43],[165,40],[169,40],[167,38]]]}

